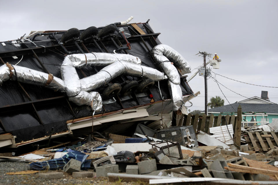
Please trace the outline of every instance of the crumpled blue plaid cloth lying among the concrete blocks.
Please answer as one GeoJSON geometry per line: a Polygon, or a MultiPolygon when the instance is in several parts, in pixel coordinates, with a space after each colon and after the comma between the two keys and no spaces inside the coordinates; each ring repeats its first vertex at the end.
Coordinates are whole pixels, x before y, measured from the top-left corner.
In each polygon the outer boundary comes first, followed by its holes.
{"type": "Polygon", "coordinates": [[[91,167],[91,160],[86,160],[88,156],[89,155],[86,155],[85,153],[79,151],[72,151],[64,155],[62,158],[52,159],[43,162],[32,162],[29,165],[33,170],[56,170],[63,169],[65,164],[67,164],[67,162],[69,162],[70,159],[76,159],[82,162],[81,169],[86,170],[91,167]]]}

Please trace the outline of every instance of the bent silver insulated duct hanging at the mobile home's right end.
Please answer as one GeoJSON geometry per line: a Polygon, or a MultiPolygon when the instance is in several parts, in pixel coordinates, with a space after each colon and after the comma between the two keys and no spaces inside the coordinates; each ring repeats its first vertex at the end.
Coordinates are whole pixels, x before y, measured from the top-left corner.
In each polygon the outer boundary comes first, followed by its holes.
{"type": "Polygon", "coordinates": [[[183,104],[178,70],[182,75],[185,75],[191,73],[191,68],[181,54],[168,45],[156,45],[151,52],[169,79],[168,87],[173,100],[173,110],[177,111],[183,104]],[[178,70],[171,62],[178,67],[178,70]]]}

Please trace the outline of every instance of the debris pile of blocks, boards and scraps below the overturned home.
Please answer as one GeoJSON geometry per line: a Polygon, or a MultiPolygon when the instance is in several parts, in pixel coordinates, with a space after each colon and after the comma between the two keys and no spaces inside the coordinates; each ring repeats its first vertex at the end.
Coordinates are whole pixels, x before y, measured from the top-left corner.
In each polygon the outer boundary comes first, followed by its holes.
{"type": "Polygon", "coordinates": [[[39,173],[39,177],[55,179],[63,178],[64,172],[73,178],[108,177],[111,182],[140,180],[150,184],[277,183],[278,133],[257,131],[257,126],[242,128],[242,145],[237,146],[231,144],[231,124],[211,127],[210,134],[201,130],[195,134],[190,132],[192,128],[190,125],[155,131],[138,124],[133,137],[109,134],[109,138],[93,132],[74,145],[68,142],[6,157],[31,161],[29,171],[7,175],[39,173]]]}

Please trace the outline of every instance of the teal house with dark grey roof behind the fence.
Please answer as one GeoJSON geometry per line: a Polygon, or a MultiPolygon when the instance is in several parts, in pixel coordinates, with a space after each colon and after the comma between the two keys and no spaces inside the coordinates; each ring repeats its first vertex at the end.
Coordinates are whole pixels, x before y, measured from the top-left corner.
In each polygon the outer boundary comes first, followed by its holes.
{"type": "Polygon", "coordinates": [[[208,114],[214,114],[215,116],[234,114],[237,116],[237,107],[240,105],[242,108],[242,123],[255,123],[257,125],[272,123],[272,119],[278,119],[278,104],[270,102],[267,93],[267,91],[262,91],[261,98],[255,96],[231,105],[209,109],[208,114]]]}

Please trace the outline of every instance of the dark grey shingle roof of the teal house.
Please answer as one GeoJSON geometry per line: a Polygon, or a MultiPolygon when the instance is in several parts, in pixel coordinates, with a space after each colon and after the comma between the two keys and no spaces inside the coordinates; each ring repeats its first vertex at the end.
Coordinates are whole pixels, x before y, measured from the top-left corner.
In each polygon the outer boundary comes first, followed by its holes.
{"type": "Polygon", "coordinates": [[[224,105],[209,109],[211,112],[237,112],[237,107],[241,106],[242,112],[266,112],[269,114],[278,114],[278,104],[264,104],[264,103],[232,103],[231,105],[224,105]]]}

